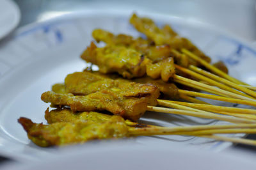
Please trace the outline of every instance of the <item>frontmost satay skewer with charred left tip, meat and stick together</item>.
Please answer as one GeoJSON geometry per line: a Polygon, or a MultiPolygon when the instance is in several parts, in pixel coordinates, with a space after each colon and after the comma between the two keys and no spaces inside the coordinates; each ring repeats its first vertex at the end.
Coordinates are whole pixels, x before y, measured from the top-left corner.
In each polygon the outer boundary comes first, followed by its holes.
{"type": "Polygon", "coordinates": [[[22,124],[26,132],[28,132],[29,139],[35,144],[38,144],[38,146],[43,147],[85,143],[92,139],[132,137],[138,135],[194,135],[234,143],[255,144],[250,139],[243,140],[233,137],[218,137],[212,134],[232,134],[235,132],[255,133],[254,128],[256,127],[255,124],[199,125],[188,127],[129,127],[120,116],[111,117],[109,120],[101,123],[97,121],[78,120],[74,122],[57,122],[51,125],[42,125],[42,123],[33,123],[27,118],[20,118],[19,123],[22,124]],[[65,130],[66,127],[68,131],[65,130]],[[72,135],[70,135],[70,132],[72,135]],[[104,135],[102,135],[102,133],[104,133],[104,135]]]}

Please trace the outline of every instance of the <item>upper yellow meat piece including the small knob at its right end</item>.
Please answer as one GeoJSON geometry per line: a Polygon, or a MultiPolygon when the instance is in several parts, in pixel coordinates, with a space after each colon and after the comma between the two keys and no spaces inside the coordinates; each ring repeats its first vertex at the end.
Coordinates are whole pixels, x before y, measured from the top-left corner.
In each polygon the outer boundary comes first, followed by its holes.
{"type": "Polygon", "coordinates": [[[117,72],[128,79],[147,74],[154,79],[161,77],[163,81],[168,81],[175,74],[173,58],[153,63],[144,54],[124,46],[106,45],[98,48],[91,43],[81,58],[99,66],[101,73],[117,72]]]}

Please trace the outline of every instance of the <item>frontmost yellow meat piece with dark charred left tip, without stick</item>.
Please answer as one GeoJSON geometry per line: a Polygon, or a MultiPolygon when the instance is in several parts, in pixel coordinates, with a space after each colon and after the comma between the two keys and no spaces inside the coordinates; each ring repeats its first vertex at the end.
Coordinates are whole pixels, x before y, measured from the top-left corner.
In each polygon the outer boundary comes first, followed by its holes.
{"type": "Polygon", "coordinates": [[[19,118],[28,138],[38,146],[63,146],[81,144],[93,139],[109,139],[128,136],[128,127],[120,116],[112,116],[104,122],[77,120],[43,125],[28,118],[19,118]]]}

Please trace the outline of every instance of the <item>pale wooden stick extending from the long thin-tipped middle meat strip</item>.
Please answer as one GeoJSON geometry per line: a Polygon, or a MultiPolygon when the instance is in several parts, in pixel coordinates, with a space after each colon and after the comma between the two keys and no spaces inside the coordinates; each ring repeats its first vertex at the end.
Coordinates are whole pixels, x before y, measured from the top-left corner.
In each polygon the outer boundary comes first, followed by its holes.
{"type": "Polygon", "coordinates": [[[178,109],[169,109],[163,107],[155,107],[155,106],[147,106],[147,111],[154,111],[154,112],[165,112],[169,114],[179,114],[179,115],[186,115],[186,116],[194,116],[198,118],[208,118],[214,120],[223,120],[229,121],[232,123],[256,123],[254,120],[247,120],[244,118],[233,118],[230,116],[223,116],[214,113],[205,113],[205,112],[195,112],[195,111],[184,111],[178,109]]]}

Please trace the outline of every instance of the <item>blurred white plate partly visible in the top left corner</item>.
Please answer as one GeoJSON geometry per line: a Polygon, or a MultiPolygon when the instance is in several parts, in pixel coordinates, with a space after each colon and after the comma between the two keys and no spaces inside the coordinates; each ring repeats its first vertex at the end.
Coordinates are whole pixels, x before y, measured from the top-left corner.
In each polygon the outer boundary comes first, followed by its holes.
{"type": "Polygon", "coordinates": [[[20,10],[12,0],[0,0],[0,39],[8,35],[20,22],[20,10]]]}

